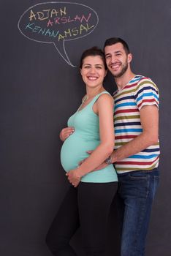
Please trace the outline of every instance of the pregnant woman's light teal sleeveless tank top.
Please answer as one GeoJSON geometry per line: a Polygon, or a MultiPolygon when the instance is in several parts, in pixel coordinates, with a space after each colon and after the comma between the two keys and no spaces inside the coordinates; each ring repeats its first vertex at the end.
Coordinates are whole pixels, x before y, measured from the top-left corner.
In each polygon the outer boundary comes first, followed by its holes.
{"type": "MultiPolygon", "coordinates": [[[[75,132],[69,135],[61,147],[61,165],[66,172],[75,169],[81,160],[88,157],[86,151],[94,150],[100,143],[99,116],[94,113],[93,105],[102,94],[109,93],[102,91],[97,94],[85,108],[78,109],[68,120],[68,127],[75,127],[75,132]]],[[[87,173],[81,181],[102,183],[118,181],[118,178],[113,165],[107,165],[102,170],[87,173]]]]}

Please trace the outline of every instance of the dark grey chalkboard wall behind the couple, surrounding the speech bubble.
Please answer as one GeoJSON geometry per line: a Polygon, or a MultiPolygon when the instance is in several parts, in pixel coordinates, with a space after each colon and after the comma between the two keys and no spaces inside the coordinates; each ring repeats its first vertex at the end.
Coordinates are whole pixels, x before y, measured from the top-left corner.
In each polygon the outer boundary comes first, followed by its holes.
{"type": "MultiPolygon", "coordinates": [[[[63,57],[58,52],[62,44],[58,50],[51,43],[35,42],[18,28],[23,12],[39,3],[42,1],[0,2],[1,255],[50,255],[45,234],[69,186],[59,160],[58,134],[85,94],[79,69],[72,66],[78,65],[86,48],[103,47],[108,37],[122,37],[134,55],[133,71],[152,78],[160,90],[161,182],[153,204],[146,255],[170,256],[170,0],[77,1],[96,12],[88,20],[94,29],[90,34],[84,30],[86,37],[65,42],[63,57]]],[[[73,5],[72,11],[77,14],[81,8],[73,5]]],[[[110,92],[115,88],[110,75],[105,86],[110,92]]],[[[114,200],[108,255],[119,255],[118,237],[114,200]]],[[[72,245],[84,255],[79,231],[72,245]]]]}

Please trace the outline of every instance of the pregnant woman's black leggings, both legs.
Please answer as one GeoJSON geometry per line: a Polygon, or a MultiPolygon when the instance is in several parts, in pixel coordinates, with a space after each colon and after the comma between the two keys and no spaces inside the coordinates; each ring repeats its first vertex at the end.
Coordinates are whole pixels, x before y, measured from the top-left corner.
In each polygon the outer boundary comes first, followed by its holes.
{"type": "Polygon", "coordinates": [[[53,255],[76,256],[69,241],[81,229],[86,255],[105,255],[107,217],[118,182],[84,183],[70,187],[47,233],[53,255]]]}

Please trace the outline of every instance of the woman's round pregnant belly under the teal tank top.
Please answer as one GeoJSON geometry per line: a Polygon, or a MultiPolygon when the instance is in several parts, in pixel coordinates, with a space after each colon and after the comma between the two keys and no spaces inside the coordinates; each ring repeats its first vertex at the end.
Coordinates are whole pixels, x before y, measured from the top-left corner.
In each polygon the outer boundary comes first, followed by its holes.
{"type": "Polygon", "coordinates": [[[99,140],[84,140],[77,133],[67,138],[61,147],[61,165],[68,172],[75,169],[78,163],[88,157],[86,151],[94,150],[99,140]]]}

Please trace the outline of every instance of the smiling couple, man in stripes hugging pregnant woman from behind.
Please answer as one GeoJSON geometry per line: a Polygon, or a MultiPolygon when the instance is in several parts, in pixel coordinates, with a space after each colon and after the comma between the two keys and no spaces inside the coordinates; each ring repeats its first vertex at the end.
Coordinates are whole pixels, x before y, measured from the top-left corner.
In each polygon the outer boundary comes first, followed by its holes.
{"type": "Polygon", "coordinates": [[[60,133],[61,164],[71,186],[47,233],[53,255],[77,255],[69,241],[80,227],[86,255],[105,256],[116,192],[121,256],[145,255],[159,183],[159,90],[150,78],[132,72],[131,61],[129,46],[118,37],[107,39],[104,51],[94,47],[81,56],[86,95],[60,133]],[[118,87],[113,97],[103,86],[107,69],[118,87]]]}

